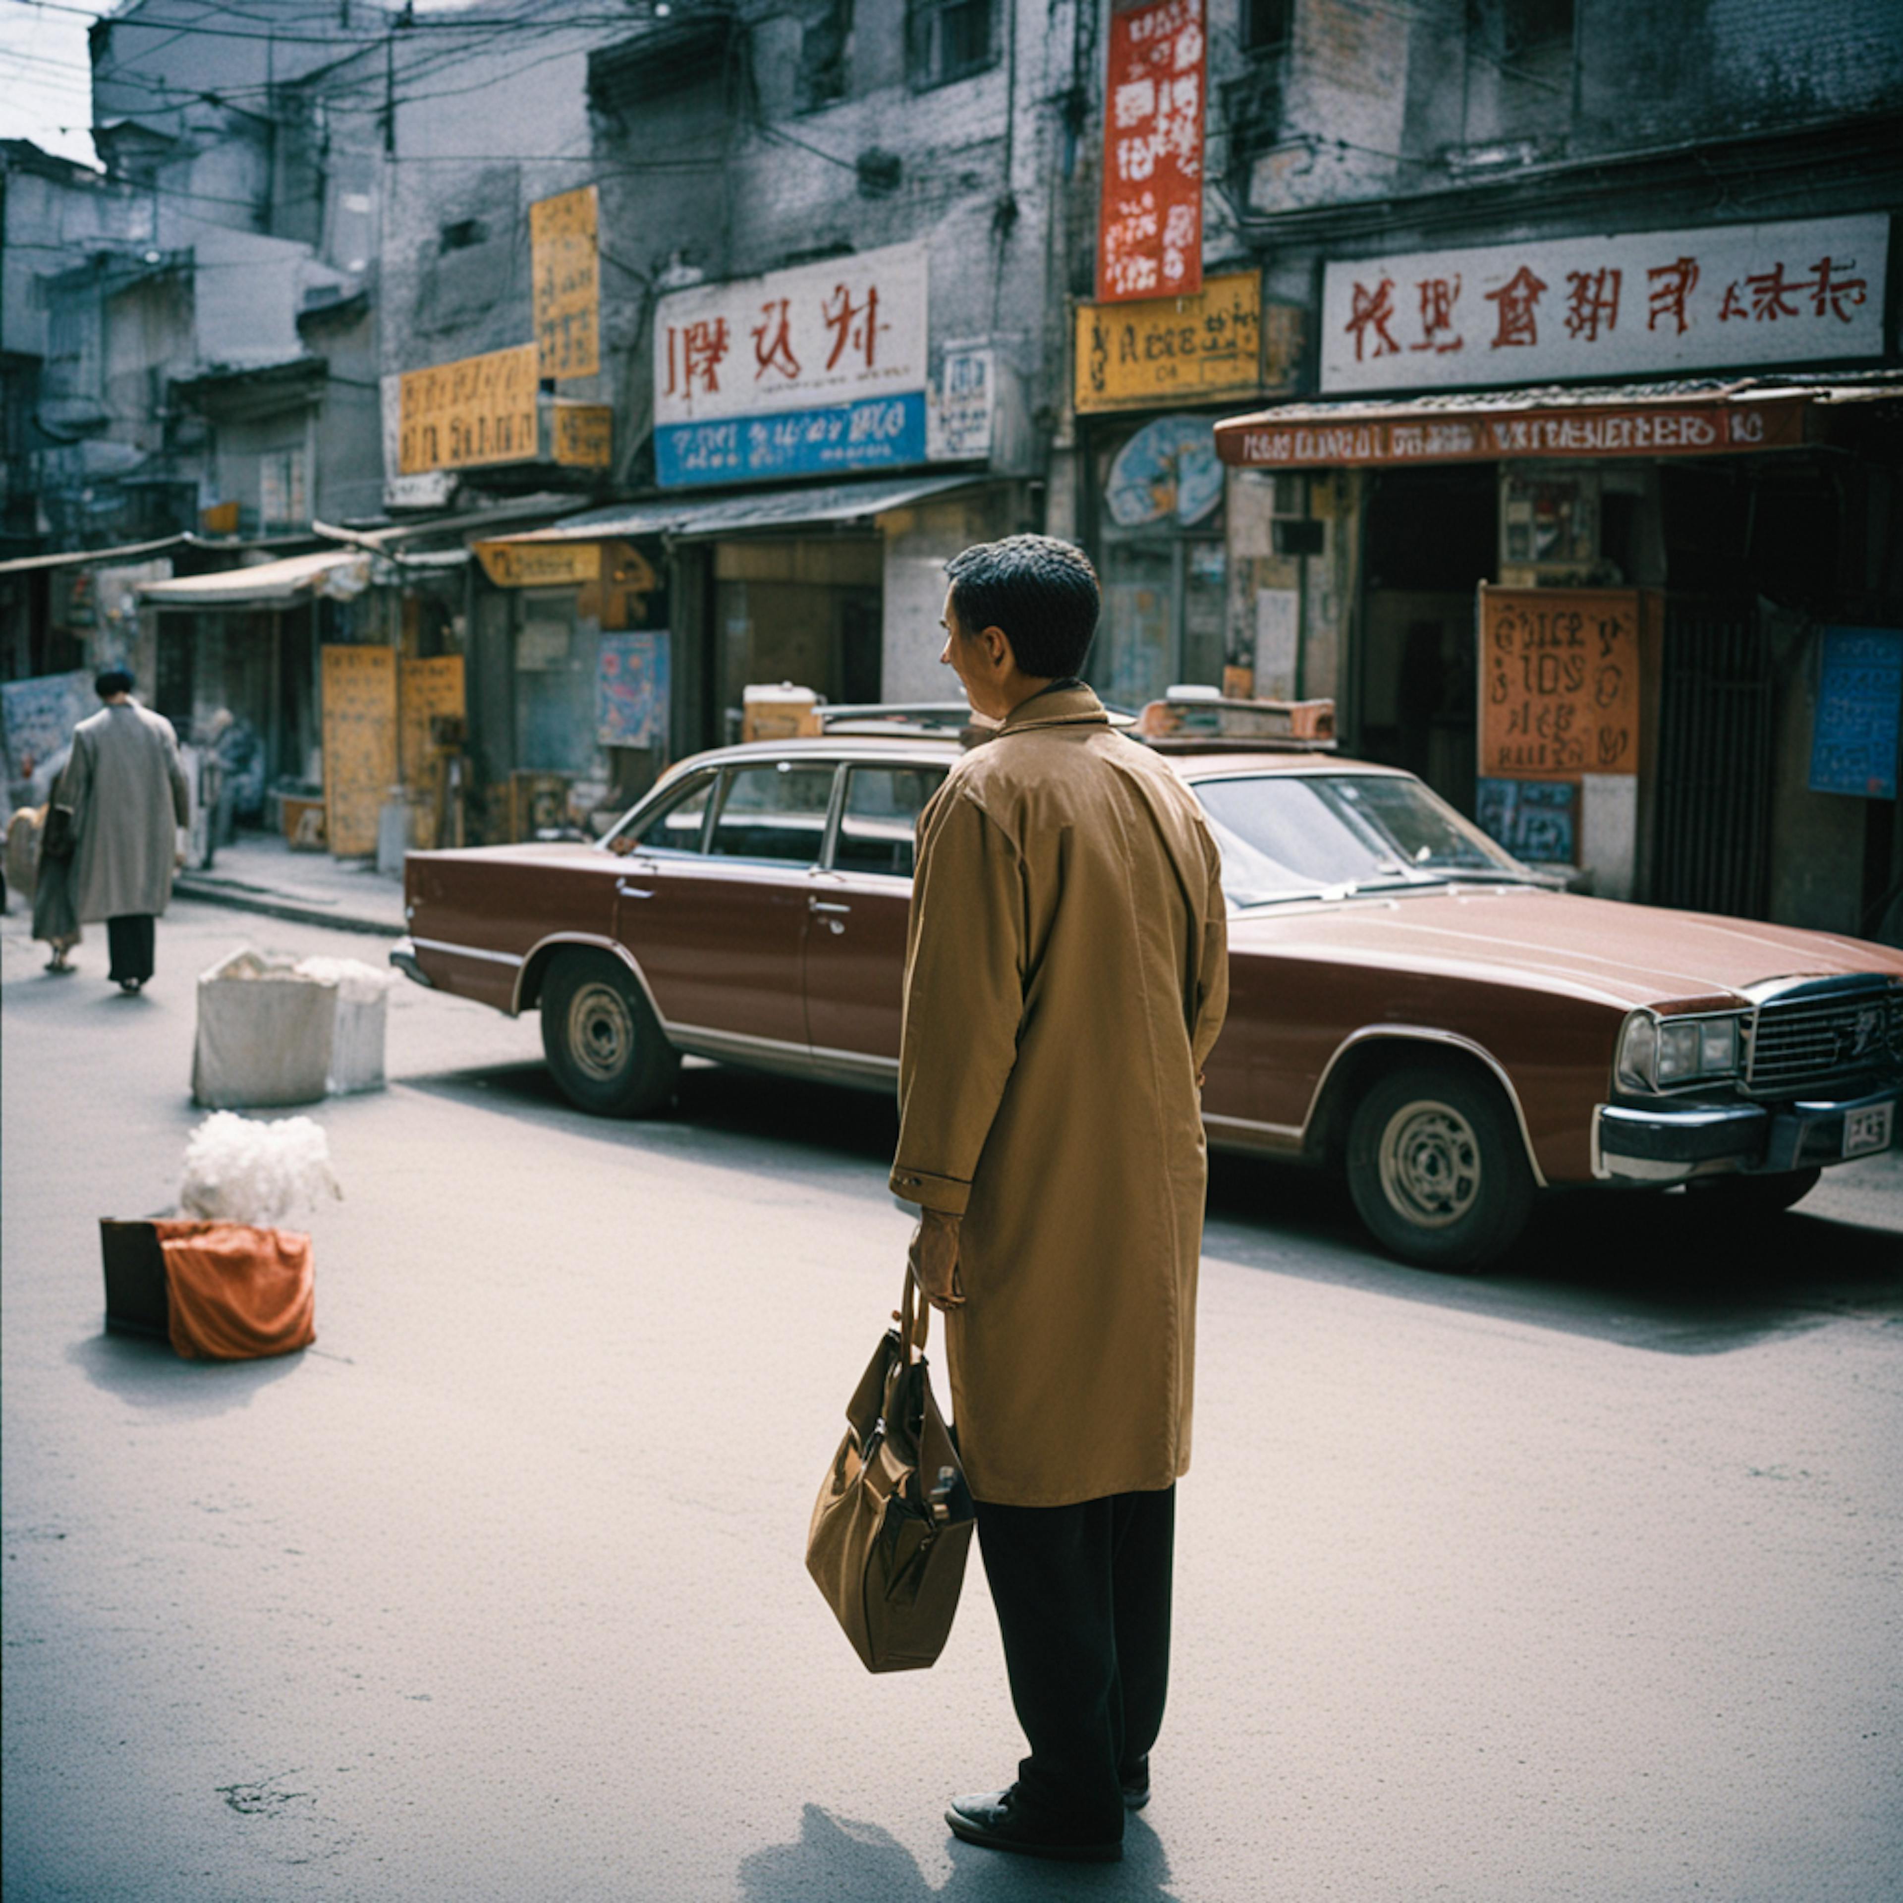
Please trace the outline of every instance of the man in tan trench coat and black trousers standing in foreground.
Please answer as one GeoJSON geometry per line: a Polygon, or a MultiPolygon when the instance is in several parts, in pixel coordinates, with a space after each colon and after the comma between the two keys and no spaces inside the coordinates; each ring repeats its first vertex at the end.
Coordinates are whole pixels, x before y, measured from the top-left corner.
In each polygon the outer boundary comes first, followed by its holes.
{"type": "Polygon", "coordinates": [[[1075,679],[1096,577],[1018,535],[948,563],[948,660],[1001,721],[919,816],[893,1189],[946,1311],[959,1454],[1030,1756],[965,1840],[1113,1859],[1149,1796],[1189,1467],[1216,845],[1075,679]]]}

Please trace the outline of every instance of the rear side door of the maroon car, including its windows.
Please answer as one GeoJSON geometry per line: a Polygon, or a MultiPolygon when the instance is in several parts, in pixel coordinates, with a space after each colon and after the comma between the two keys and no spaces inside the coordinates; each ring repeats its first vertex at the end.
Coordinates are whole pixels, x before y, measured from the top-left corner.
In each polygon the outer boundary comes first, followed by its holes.
{"type": "Polygon", "coordinates": [[[809,759],[729,765],[649,822],[622,862],[620,938],[683,1049],[805,1068],[807,883],[835,773],[809,759]]]}

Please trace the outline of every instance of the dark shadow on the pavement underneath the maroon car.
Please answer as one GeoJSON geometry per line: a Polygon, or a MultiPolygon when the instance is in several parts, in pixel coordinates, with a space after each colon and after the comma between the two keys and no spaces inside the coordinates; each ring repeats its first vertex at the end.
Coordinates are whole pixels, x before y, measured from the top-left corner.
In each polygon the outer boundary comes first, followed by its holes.
{"type": "MultiPolygon", "coordinates": [[[[565,1127],[579,1140],[651,1155],[695,1149],[778,1180],[809,1178],[820,1163],[839,1187],[872,1199],[887,1193],[898,1134],[896,1106],[883,1094],[719,1064],[689,1064],[668,1113],[630,1123],[575,1109],[535,1062],[396,1081],[565,1127]]],[[[1383,1254],[1338,1174],[1216,1155],[1203,1246],[1250,1269],[1673,1355],[1726,1353],[1846,1317],[1903,1324],[1897,1233],[1802,1205],[1739,1224],[1682,1191],[1557,1191],[1498,1267],[1442,1275],[1383,1254]]]]}

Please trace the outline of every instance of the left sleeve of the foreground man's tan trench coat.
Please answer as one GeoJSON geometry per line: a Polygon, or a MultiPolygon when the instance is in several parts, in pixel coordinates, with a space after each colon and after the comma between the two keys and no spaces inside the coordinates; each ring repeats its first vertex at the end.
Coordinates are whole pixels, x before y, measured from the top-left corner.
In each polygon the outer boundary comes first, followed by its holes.
{"type": "Polygon", "coordinates": [[[1024,875],[984,809],[955,788],[927,809],[912,885],[898,1054],[904,1203],[963,1216],[971,1180],[1018,1060],[1024,1016],[1024,875]]]}

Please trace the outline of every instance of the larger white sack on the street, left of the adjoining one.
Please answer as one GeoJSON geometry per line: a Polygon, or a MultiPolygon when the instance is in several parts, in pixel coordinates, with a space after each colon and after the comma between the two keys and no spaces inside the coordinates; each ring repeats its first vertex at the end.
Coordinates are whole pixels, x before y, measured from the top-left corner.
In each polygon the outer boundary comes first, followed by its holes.
{"type": "Polygon", "coordinates": [[[198,980],[192,1100],[213,1109],[324,1096],[337,1037],[337,984],[244,948],[198,980]]]}

